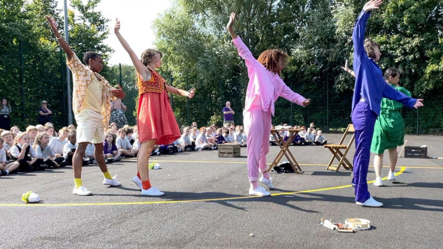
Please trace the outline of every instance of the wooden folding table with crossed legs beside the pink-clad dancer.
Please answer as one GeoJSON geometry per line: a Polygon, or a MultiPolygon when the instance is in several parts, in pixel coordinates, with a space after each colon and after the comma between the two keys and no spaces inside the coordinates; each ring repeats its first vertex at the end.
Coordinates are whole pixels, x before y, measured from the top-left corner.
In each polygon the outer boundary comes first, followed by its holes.
{"type": "Polygon", "coordinates": [[[299,164],[295,160],[294,156],[292,155],[291,151],[289,150],[289,145],[291,145],[292,141],[294,140],[294,137],[297,135],[297,133],[300,131],[300,129],[272,129],[271,134],[274,136],[276,140],[276,144],[280,146],[280,152],[278,153],[277,157],[274,159],[274,161],[271,163],[271,166],[268,168],[268,172],[272,170],[273,167],[276,167],[277,164],[280,162],[281,158],[286,156],[286,159],[288,159],[289,164],[291,164],[292,168],[294,169],[295,173],[299,174],[299,171],[302,171],[299,164]],[[283,141],[283,137],[280,135],[279,131],[287,131],[288,132],[288,140],[286,142],[283,141]]]}

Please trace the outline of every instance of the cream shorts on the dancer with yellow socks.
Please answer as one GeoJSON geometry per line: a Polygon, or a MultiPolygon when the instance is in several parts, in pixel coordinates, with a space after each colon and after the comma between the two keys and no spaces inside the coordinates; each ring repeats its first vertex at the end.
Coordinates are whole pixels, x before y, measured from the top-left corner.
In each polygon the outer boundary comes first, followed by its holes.
{"type": "Polygon", "coordinates": [[[105,129],[101,113],[90,109],[83,109],[80,113],[74,113],[74,116],[77,121],[77,143],[103,144],[103,141],[105,141],[105,129]]]}

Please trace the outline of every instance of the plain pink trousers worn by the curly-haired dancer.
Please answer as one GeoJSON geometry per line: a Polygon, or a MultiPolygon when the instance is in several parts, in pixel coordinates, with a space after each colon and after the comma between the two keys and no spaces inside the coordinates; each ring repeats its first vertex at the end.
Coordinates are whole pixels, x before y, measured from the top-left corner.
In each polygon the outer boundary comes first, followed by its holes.
{"type": "Polygon", "coordinates": [[[264,112],[261,105],[252,106],[245,112],[243,124],[248,141],[248,176],[250,182],[259,179],[259,173],[268,169],[266,154],[269,152],[271,112],[264,112]]]}

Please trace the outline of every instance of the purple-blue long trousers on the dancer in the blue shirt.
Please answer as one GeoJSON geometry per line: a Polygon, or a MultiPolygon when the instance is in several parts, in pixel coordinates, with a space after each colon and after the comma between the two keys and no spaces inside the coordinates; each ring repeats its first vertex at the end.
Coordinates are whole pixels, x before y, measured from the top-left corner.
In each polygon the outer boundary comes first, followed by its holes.
{"type": "Polygon", "coordinates": [[[365,202],[371,197],[366,176],[368,175],[370,148],[376,119],[377,114],[369,108],[366,101],[358,102],[352,112],[352,123],[355,130],[354,178],[352,183],[355,184],[356,202],[365,202]]]}

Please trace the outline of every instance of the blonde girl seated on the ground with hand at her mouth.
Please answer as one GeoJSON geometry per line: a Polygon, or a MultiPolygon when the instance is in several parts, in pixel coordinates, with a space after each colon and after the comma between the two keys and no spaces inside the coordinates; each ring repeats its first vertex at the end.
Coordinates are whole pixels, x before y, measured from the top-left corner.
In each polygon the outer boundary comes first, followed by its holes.
{"type": "Polygon", "coordinates": [[[19,162],[19,171],[21,172],[47,169],[48,165],[37,156],[37,153],[31,147],[30,140],[31,137],[25,132],[16,136],[14,146],[11,148],[10,162],[19,162]]]}

